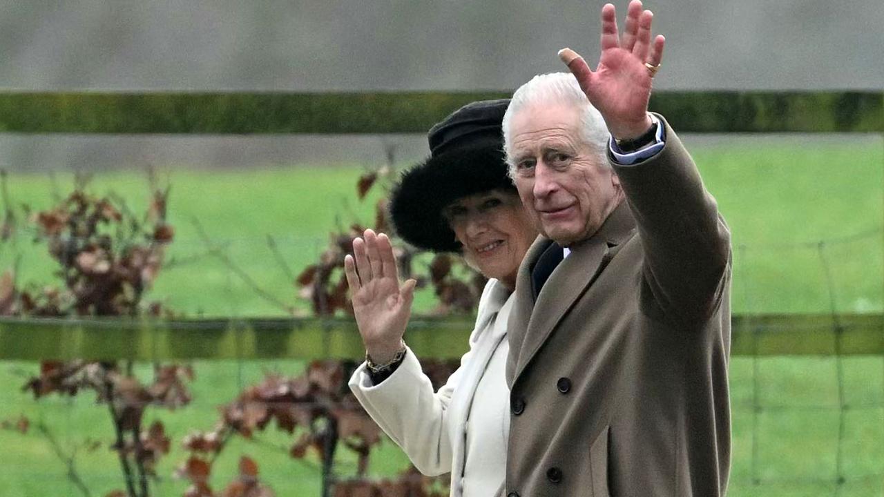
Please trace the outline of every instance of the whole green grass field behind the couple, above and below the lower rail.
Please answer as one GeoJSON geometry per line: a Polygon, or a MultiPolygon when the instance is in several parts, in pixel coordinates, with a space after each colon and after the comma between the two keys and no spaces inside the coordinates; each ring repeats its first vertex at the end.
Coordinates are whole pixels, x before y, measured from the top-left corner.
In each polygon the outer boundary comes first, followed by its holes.
{"type": "MultiPolygon", "coordinates": [[[[741,140],[691,146],[707,187],[728,219],[735,247],[733,304],[737,313],[881,312],[884,310],[884,147],[880,140],[741,140]],[[831,275],[832,284],[827,280],[831,275]]],[[[205,247],[192,219],[271,294],[296,302],[297,289],[274,262],[265,237],[272,234],[288,263],[300,270],[324,246],[331,226],[368,222],[374,199],[355,201],[359,166],[164,173],[176,240],[172,260],[201,255],[205,247]]],[[[59,175],[63,191],[70,177],[59,175]]],[[[50,180],[12,174],[14,203],[50,205],[50,180]]],[[[113,190],[141,210],[146,180],[138,172],[97,177],[92,191],[113,190]]],[[[52,266],[27,236],[0,245],[0,269],[20,256],[19,280],[50,281],[52,266]]],[[[255,295],[210,256],[164,271],[149,295],[187,315],[277,316],[280,310],[255,295]]],[[[424,294],[420,309],[431,298],[424,294]]],[[[304,308],[306,309],[306,308],[304,308]]],[[[800,340],[800,337],[798,337],[800,340]]],[[[216,406],[261,378],[263,371],[296,373],[291,361],[197,362],[194,403],[175,412],[149,410],[164,420],[173,453],[159,472],[160,495],[180,495],[186,486],[171,479],[184,460],[179,441],[191,429],[209,429],[216,406]]],[[[33,401],[18,391],[22,374],[35,363],[0,363],[0,419],[24,414],[43,419],[65,447],[82,440],[110,440],[110,421],[89,394],[74,401],[33,401]]],[[[884,358],[735,357],[731,365],[734,461],[729,495],[884,495],[884,358]],[[840,371],[840,372],[839,372],[840,371]],[[840,378],[840,381],[839,381],[840,378]],[[847,409],[840,409],[841,401],[847,409]],[[842,423],[843,422],[843,423],[842,423]],[[839,436],[841,433],[841,436],[839,436]],[[839,439],[841,443],[839,444],[839,439]],[[840,448],[839,448],[840,447],[840,448]],[[839,450],[841,455],[839,456],[839,450]],[[846,478],[835,485],[837,465],[846,478]],[[760,478],[758,485],[753,478],[760,478]],[[837,488],[836,488],[837,487],[837,488]]],[[[238,440],[225,449],[216,471],[232,474],[239,455],[252,455],[278,495],[318,495],[315,463],[290,459],[280,447],[291,442],[268,431],[260,442],[238,440]]],[[[77,495],[65,468],[36,432],[0,431],[0,495],[77,495]]],[[[77,457],[81,474],[102,496],[122,488],[118,463],[106,445],[77,457]]],[[[390,474],[405,465],[387,442],[372,457],[371,472],[390,474]]],[[[341,472],[353,462],[341,464],[341,472]]]]}

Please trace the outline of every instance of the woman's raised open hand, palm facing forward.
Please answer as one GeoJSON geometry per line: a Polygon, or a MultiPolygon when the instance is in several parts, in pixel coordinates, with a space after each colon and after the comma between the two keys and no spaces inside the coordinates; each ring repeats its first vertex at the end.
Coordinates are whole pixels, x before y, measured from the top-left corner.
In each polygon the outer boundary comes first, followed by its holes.
{"type": "Polygon", "coordinates": [[[366,352],[376,363],[388,362],[403,347],[411,317],[414,279],[399,284],[396,256],[384,233],[365,230],[353,241],[354,256],[344,257],[356,325],[366,352]]]}

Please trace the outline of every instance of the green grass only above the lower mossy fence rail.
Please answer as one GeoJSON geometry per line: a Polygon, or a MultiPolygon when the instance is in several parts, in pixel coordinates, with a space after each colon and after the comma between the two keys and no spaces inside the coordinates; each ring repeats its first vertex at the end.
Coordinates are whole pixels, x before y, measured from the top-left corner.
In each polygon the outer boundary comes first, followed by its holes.
{"type": "MultiPolygon", "coordinates": [[[[819,241],[828,243],[823,255],[834,269],[836,308],[884,310],[880,140],[815,144],[753,139],[691,149],[733,233],[735,312],[829,310],[819,241]],[[842,241],[857,234],[865,236],[842,241]]],[[[334,226],[370,224],[375,200],[383,192],[372,191],[358,202],[355,182],[362,171],[360,166],[339,166],[160,174],[171,182],[169,217],[176,228],[168,260],[181,264],[161,274],[149,298],[191,316],[281,315],[282,310],[261,299],[224,264],[205,255],[194,219],[270,294],[295,304],[297,288],[275,262],[266,237],[278,241],[282,256],[299,271],[316,259],[334,226]]],[[[71,180],[58,175],[59,189],[66,192],[71,180]]],[[[14,204],[39,209],[51,203],[47,176],[12,174],[9,185],[14,204]]],[[[145,209],[148,198],[141,172],[99,176],[91,190],[124,195],[136,212],[145,209]]],[[[48,256],[42,248],[34,249],[27,235],[0,245],[0,268],[10,267],[16,256],[21,256],[19,280],[51,280],[54,268],[48,256]]],[[[419,306],[428,300],[424,296],[419,306]]]]}

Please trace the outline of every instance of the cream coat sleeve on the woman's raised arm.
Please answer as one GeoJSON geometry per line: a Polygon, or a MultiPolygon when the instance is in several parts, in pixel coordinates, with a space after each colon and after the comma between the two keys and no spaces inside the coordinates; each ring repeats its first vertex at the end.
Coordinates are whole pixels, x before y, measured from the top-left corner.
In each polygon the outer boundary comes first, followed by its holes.
{"type": "Polygon", "coordinates": [[[424,475],[451,471],[448,406],[470,355],[461,357],[461,367],[438,392],[433,392],[430,378],[423,374],[410,348],[399,368],[379,385],[372,385],[365,363],[350,378],[350,390],[362,407],[424,475]]]}

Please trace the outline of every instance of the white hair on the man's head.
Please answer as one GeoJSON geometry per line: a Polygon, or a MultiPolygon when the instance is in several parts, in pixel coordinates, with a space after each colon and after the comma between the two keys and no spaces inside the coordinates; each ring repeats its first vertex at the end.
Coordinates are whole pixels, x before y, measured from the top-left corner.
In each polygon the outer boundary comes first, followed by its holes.
{"type": "Polygon", "coordinates": [[[586,98],[580,84],[571,73],[538,74],[523,84],[513,94],[513,98],[503,116],[503,147],[507,154],[508,174],[514,178],[515,164],[512,156],[512,134],[510,126],[513,116],[532,105],[551,105],[564,103],[582,109],[581,132],[585,144],[591,146],[602,158],[601,164],[607,162],[607,141],[610,137],[605,120],[598,110],[586,98]]]}

